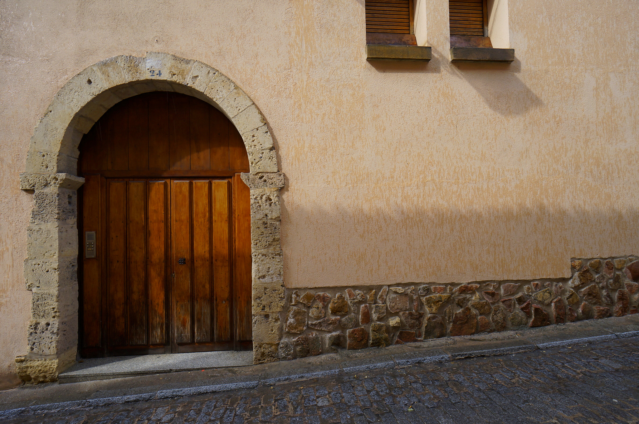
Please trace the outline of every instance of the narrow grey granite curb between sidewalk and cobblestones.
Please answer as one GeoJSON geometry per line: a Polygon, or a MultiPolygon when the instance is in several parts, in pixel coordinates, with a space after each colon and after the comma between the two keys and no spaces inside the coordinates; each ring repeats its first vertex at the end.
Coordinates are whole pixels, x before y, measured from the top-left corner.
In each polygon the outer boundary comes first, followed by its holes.
{"type": "MultiPolygon", "coordinates": [[[[448,345],[441,349],[426,349],[424,352],[399,352],[397,354],[389,354],[377,356],[376,358],[343,360],[332,365],[325,366],[324,370],[315,372],[300,372],[299,368],[291,369],[289,372],[279,372],[280,375],[257,375],[252,381],[231,382],[226,384],[209,384],[204,386],[194,386],[189,388],[175,388],[169,390],[158,390],[150,393],[141,393],[137,395],[125,395],[116,397],[72,400],[68,402],[58,402],[51,404],[29,405],[14,409],[0,411],[0,420],[12,418],[19,415],[37,414],[55,412],[69,409],[91,409],[107,405],[127,404],[132,402],[150,402],[153,400],[181,398],[195,395],[204,395],[206,393],[215,393],[220,391],[232,391],[240,389],[254,389],[258,386],[272,386],[273,384],[281,384],[283,382],[303,381],[314,378],[328,377],[340,374],[353,374],[357,372],[366,372],[380,368],[408,367],[418,363],[444,363],[449,361],[461,360],[464,358],[479,358],[489,356],[503,356],[507,354],[516,354],[519,352],[530,352],[539,349],[550,349],[553,347],[565,347],[576,344],[597,344],[609,342],[619,338],[639,337],[639,331],[620,331],[615,333],[609,331],[606,335],[596,335],[592,337],[566,338],[564,340],[555,340],[553,342],[544,342],[530,344],[525,337],[516,340],[485,340],[473,341],[473,347],[482,347],[484,349],[464,349],[463,346],[448,345]],[[504,344],[508,344],[504,346],[504,344]],[[493,347],[486,349],[489,345],[493,347]],[[373,362],[371,362],[373,360],[373,362]]],[[[309,368],[317,369],[317,366],[309,366],[309,368]]],[[[65,384],[68,386],[68,384],[65,384]]]]}

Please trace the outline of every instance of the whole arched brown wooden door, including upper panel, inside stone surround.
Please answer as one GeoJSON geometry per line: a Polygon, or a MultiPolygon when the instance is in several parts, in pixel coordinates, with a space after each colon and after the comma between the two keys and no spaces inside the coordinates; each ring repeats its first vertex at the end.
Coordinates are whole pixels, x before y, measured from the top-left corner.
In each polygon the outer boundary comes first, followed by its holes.
{"type": "Polygon", "coordinates": [[[252,349],[249,160],[197,98],[118,103],[80,144],[84,357],[252,349]]]}

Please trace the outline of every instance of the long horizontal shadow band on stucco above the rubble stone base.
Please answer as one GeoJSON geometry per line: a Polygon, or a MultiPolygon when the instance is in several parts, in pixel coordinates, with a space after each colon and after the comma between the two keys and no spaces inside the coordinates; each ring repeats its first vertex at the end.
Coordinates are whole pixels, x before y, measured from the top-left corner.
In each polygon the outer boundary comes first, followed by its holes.
{"type": "Polygon", "coordinates": [[[330,210],[282,205],[287,287],[562,278],[571,257],[636,254],[639,244],[629,231],[638,208],[464,211],[397,199],[382,209],[343,200],[330,210]]]}

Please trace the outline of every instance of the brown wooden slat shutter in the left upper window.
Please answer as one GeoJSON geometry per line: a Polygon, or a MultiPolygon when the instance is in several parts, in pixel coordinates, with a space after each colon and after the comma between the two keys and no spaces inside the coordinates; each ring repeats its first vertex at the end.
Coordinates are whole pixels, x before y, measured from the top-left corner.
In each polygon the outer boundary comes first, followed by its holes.
{"type": "Polygon", "coordinates": [[[366,32],[410,34],[410,0],[366,0],[366,32]]]}

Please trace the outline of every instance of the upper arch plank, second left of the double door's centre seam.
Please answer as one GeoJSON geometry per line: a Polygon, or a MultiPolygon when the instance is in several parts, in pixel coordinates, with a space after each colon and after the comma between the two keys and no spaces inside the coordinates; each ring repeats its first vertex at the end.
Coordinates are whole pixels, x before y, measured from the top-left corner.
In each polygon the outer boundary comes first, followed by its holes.
{"type": "Polygon", "coordinates": [[[149,169],[148,96],[128,100],[128,169],[149,169]]]}

